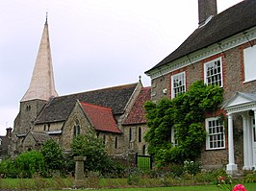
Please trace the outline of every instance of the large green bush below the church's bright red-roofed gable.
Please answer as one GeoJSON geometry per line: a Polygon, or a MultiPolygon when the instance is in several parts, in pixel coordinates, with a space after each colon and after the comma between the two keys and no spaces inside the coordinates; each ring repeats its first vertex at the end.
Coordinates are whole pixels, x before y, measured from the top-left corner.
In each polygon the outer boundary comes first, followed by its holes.
{"type": "Polygon", "coordinates": [[[80,134],[71,142],[72,156],[86,156],[85,170],[99,172],[102,175],[121,173],[123,168],[107,154],[101,138],[95,131],[80,134]]]}

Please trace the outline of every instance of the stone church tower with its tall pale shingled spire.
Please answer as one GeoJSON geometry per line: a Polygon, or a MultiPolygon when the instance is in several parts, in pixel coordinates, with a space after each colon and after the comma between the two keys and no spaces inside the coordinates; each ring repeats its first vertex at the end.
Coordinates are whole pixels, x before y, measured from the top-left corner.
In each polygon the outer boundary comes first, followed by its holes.
{"type": "Polygon", "coordinates": [[[34,122],[41,109],[54,97],[58,96],[55,90],[50,40],[47,17],[41,36],[38,56],[34,66],[28,90],[20,101],[19,113],[14,121],[13,135],[18,142],[22,141],[26,133],[33,130],[34,122]]]}

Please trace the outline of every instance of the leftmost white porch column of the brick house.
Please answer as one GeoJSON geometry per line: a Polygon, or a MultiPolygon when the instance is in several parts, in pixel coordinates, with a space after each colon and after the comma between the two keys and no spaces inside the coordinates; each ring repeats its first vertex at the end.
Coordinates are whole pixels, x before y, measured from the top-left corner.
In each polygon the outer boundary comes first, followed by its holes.
{"type": "Polygon", "coordinates": [[[233,115],[228,113],[228,164],[226,171],[228,174],[235,174],[238,170],[238,165],[235,164],[234,155],[234,137],[233,137],[233,115]]]}

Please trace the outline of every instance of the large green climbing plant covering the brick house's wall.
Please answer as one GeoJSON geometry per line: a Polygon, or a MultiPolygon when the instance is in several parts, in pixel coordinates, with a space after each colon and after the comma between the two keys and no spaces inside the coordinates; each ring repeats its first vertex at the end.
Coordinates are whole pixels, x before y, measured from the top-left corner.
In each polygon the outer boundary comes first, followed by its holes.
{"type": "Polygon", "coordinates": [[[166,163],[182,163],[194,160],[200,155],[206,131],[202,122],[205,112],[213,112],[223,99],[223,90],[218,85],[195,82],[191,88],[176,98],[162,99],[155,104],[146,102],[147,126],[145,141],[149,143],[148,153],[155,156],[158,166],[166,163]],[[175,140],[171,143],[171,129],[174,128],[175,140]]]}

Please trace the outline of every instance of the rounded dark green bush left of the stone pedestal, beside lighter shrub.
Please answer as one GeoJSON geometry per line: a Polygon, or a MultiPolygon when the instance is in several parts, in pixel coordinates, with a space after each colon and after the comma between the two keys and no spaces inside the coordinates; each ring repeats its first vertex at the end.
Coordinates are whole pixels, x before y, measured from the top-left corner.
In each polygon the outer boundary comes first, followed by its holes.
{"type": "Polygon", "coordinates": [[[61,146],[54,139],[47,139],[41,148],[41,154],[48,171],[62,170],[64,155],[61,146]]]}

